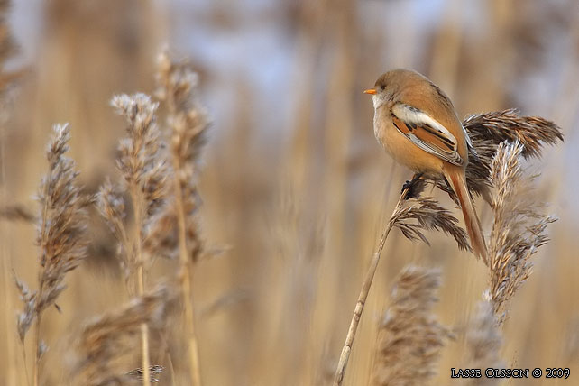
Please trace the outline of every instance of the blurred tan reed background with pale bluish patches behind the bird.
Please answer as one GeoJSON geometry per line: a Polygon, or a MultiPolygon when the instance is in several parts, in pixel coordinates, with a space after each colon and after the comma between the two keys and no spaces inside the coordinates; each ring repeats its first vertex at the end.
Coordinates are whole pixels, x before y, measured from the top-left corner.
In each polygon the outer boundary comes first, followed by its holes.
{"type": "MultiPolygon", "coordinates": [[[[363,272],[411,177],[373,136],[372,101],[362,91],[382,72],[417,69],[446,90],[461,117],[516,107],[556,122],[565,142],[547,147],[543,161],[528,167],[542,173],[535,194],[560,219],[510,304],[498,354],[508,367],[571,368],[570,380],[532,384],[576,383],[575,1],[28,0],[15,2],[8,21],[20,45],[8,68],[26,72],[2,109],[3,206],[37,212],[32,196],[46,170],[54,123],[69,122],[70,155],[87,191],[96,193],[105,176],[115,176],[124,135],[110,98],[152,93],[155,57],[165,44],[198,71],[199,97],[213,122],[199,216],[207,250],[221,252],[196,264],[192,284],[205,385],[331,383],[363,272]]],[[[444,206],[454,206],[436,194],[444,206]]],[[[492,213],[483,200],[477,203],[488,233],[492,213]]],[[[75,334],[89,317],[127,299],[115,240],[101,218],[90,218],[87,260],[68,276],[62,312],[48,309],[42,320],[51,346],[42,384],[69,384],[75,334]]],[[[22,305],[12,272],[33,287],[38,248],[31,224],[4,219],[0,231],[0,383],[25,385],[32,366],[25,369],[15,332],[22,305]]],[[[440,269],[435,312],[455,340],[443,349],[434,384],[458,384],[450,368],[462,363],[465,331],[488,285],[487,272],[451,239],[428,238],[430,247],[391,234],[345,384],[372,380],[380,321],[394,278],[409,263],[440,269]]],[[[179,338],[179,330],[172,335],[179,338]]],[[[161,384],[187,384],[186,355],[173,348],[174,373],[161,374],[161,384]]],[[[156,349],[152,363],[165,359],[156,349]]],[[[30,360],[30,342],[26,350],[30,360]]]]}

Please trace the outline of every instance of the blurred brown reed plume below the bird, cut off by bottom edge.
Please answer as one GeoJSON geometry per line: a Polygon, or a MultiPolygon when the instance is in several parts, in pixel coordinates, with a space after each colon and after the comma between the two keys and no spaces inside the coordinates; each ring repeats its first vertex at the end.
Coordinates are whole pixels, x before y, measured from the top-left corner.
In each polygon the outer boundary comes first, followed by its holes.
{"type": "Polygon", "coordinates": [[[439,271],[409,266],[400,273],[378,333],[374,385],[425,385],[436,374],[451,336],[432,313],[439,286],[439,271]]]}

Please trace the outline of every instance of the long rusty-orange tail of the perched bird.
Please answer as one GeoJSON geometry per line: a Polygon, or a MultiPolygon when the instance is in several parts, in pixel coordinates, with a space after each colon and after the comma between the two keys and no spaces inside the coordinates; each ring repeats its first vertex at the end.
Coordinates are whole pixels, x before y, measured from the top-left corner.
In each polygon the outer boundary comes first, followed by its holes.
{"type": "Polygon", "coordinates": [[[466,224],[466,231],[468,237],[471,239],[471,246],[473,252],[479,257],[483,258],[483,262],[488,265],[486,244],[484,243],[483,228],[481,221],[476,216],[473,199],[466,187],[466,179],[464,178],[463,170],[445,170],[446,180],[456,193],[456,197],[460,202],[460,207],[463,211],[464,224],[466,224]]]}

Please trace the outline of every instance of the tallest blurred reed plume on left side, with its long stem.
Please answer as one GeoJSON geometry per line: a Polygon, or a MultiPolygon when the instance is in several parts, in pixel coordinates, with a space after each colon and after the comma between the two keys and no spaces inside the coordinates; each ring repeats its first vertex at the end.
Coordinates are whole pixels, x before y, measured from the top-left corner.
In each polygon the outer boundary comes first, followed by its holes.
{"type": "MultiPolygon", "coordinates": [[[[203,252],[198,226],[198,164],[206,142],[207,113],[197,101],[198,77],[187,61],[171,61],[167,52],[158,60],[157,96],[167,106],[170,130],[170,163],[172,190],[169,205],[164,207],[157,226],[152,230],[157,250],[164,254],[179,253],[185,326],[188,329],[190,381],[201,384],[198,341],[191,294],[193,264],[203,252]],[[174,248],[175,241],[179,248],[174,248]]],[[[155,245],[152,245],[153,247],[155,245]]]]}

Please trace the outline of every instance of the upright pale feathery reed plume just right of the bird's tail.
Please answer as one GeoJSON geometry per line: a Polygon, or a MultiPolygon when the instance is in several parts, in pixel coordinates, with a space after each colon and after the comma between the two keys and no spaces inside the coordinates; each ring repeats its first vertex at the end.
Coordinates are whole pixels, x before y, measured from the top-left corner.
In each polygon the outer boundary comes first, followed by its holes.
{"type": "Polygon", "coordinates": [[[530,194],[532,177],[520,165],[524,147],[521,142],[501,142],[491,164],[494,222],[489,238],[491,285],[488,297],[502,323],[506,303],[528,278],[530,258],[547,244],[547,225],[556,221],[539,214],[542,207],[530,194]]]}

